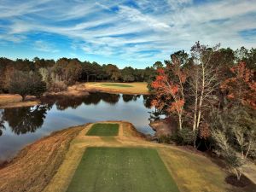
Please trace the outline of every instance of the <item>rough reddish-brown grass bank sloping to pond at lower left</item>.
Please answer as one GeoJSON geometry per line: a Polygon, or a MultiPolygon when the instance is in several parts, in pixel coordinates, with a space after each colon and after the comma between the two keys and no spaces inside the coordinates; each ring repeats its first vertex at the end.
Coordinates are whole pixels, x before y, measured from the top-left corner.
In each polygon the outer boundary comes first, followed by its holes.
{"type": "Polygon", "coordinates": [[[22,149],[0,168],[0,191],[42,191],[64,160],[70,142],[82,126],[56,131],[22,149]]]}

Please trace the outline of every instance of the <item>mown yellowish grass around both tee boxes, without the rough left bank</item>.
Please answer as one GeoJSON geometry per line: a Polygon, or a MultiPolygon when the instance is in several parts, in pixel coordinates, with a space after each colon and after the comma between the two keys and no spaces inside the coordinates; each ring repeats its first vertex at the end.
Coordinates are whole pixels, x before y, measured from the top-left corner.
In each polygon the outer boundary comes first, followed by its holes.
{"type": "MultiPolygon", "coordinates": [[[[79,162],[83,158],[84,151],[86,154],[88,148],[96,147],[154,148],[160,154],[161,160],[163,160],[181,192],[230,191],[230,186],[224,183],[224,177],[226,176],[224,170],[212,163],[207,157],[201,154],[192,154],[175,146],[149,143],[134,131],[130,123],[120,121],[108,123],[119,124],[119,135],[107,138],[86,136],[86,132],[90,130],[93,124],[84,126],[79,136],[71,143],[66,159],[47,188],[44,189],[44,192],[67,191],[79,166],[79,162]]],[[[148,177],[151,177],[151,174],[148,177]]]]}

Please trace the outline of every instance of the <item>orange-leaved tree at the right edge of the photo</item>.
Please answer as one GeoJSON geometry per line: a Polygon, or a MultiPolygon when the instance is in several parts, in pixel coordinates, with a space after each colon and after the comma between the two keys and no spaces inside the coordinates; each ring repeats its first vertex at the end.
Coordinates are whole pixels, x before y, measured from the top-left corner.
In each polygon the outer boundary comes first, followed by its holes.
{"type": "Polygon", "coordinates": [[[226,79],[220,86],[221,90],[227,93],[227,98],[230,101],[256,109],[255,72],[248,69],[245,62],[231,67],[230,71],[234,77],[226,79]]]}

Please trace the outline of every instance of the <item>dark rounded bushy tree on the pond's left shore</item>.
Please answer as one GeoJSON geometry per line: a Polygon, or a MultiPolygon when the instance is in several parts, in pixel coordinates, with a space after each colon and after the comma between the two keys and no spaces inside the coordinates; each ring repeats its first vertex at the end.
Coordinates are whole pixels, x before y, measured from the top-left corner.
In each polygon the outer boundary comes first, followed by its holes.
{"type": "Polygon", "coordinates": [[[46,90],[46,84],[39,73],[15,71],[9,82],[9,91],[20,94],[22,100],[28,95],[41,96],[46,90]]]}

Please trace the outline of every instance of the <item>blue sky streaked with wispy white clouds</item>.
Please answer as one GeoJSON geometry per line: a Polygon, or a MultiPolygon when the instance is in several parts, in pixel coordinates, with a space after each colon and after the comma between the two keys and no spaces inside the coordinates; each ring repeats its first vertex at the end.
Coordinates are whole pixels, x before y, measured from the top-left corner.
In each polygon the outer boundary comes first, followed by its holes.
{"type": "Polygon", "coordinates": [[[143,68],[196,41],[256,46],[256,0],[0,0],[0,56],[143,68]]]}

